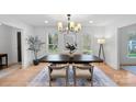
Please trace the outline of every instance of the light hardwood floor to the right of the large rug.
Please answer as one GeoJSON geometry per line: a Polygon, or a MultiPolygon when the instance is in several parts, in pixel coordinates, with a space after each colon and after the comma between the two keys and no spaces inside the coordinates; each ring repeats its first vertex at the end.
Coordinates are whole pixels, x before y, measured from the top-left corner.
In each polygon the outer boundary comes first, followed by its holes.
{"type": "Polygon", "coordinates": [[[133,75],[129,71],[123,69],[115,70],[105,64],[97,64],[97,66],[120,87],[136,87],[136,75],[133,75]]]}

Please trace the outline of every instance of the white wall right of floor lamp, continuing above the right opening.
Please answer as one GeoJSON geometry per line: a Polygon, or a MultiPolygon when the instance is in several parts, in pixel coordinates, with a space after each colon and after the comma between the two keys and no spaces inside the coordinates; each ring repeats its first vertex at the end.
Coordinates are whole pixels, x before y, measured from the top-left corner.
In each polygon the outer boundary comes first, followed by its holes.
{"type": "Polygon", "coordinates": [[[135,16],[122,18],[116,22],[113,22],[105,26],[105,57],[106,63],[114,69],[120,69],[120,38],[118,29],[136,23],[135,16]]]}

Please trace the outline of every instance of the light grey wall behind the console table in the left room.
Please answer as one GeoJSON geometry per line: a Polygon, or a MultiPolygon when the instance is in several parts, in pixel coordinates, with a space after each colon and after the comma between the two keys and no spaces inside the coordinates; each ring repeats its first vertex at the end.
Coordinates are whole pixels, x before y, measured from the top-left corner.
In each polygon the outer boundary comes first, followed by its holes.
{"type": "Polygon", "coordinates": [[[0,53],[8,54],[9,65],[18,63],[16,31],[19,29],[0,25],[0,53]]]}

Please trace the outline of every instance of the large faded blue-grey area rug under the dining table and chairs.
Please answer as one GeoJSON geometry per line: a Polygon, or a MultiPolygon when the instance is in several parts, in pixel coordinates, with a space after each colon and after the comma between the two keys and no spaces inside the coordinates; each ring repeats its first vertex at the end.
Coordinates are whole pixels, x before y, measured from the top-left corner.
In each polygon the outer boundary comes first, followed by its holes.
{"type": "MultiPolygon", "coordinates": [[[[72,69],[69,68],[69,77],[68,84],[69,87],[73,86],[73,72],[72,69]]],[[[48,78],[48,68],[44,68],[33,80],[31,80],[27,84],[29,87],[48,87],[49,78],[48,78]]],[[[53,87],[65,87],[66,80],[64,78],[58,78],[52,81],[53,87]]],[[[86,79],[77,79],[78,87],[91,87],[89,80],[86,79]]],[[[101,69],[94,68],[93,72],[93,87],[117,87],[117,84],[112,81],[101,69]]]]}

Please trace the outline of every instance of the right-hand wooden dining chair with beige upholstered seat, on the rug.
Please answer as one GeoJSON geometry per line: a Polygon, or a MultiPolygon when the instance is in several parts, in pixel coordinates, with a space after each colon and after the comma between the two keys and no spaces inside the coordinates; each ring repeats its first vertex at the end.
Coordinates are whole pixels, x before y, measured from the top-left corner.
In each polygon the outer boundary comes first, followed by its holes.
{"type": "Polygon", "coordinates": [[[93,66],[90,64],[72,64],[75,86],[77,86],[77,79],[83,78],[91,82],[93,86],[93,66]]]}

